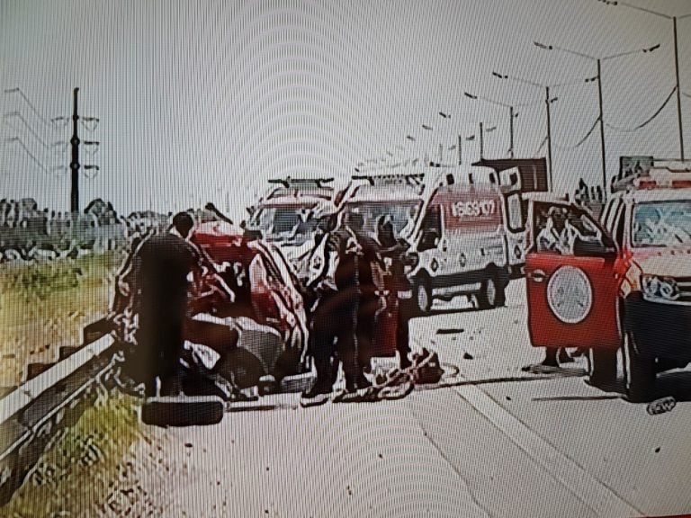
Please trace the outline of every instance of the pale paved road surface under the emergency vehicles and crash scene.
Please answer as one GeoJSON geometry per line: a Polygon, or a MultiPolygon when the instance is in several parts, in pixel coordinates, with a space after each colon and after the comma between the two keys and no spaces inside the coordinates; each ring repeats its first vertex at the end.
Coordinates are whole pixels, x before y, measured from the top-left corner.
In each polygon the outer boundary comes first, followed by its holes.
{"type": "MultiPolygon", "coordinates": [[[[162,431],[166,469],[142,490],[165,516],[691,512],[691,405],[648,415],[589,387],[581,359],[552,377],[522,372],[540,352],[528,343],[523,283],[508,295],[507,308],[448,305],[414,321],[416,343],[460,367],[455,386],[310,409],[282,395],[265,398],[273,409],[162,431]]],[[[663,385],[688,400],[689,380],[677,372],[663,385]]]]}

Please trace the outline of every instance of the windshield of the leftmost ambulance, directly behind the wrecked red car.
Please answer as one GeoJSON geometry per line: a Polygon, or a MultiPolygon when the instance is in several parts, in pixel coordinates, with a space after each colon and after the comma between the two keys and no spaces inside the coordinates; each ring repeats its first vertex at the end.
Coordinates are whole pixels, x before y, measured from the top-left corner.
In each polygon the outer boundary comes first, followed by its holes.
{"type": "Polygon", "coordinates": [[[314,234],[317,223],[312,207],[276,206],[260,209],[252,226],[261,229],[268,241],[299,246],[314,234]]]}

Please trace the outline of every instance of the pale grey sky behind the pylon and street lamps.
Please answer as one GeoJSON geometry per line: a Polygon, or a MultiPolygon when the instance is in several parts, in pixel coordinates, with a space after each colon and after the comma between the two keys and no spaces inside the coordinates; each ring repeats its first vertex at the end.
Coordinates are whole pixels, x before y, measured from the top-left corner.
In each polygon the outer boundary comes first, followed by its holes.
{"type": "MultiPolygon", "coordinates": [[[[687,0],[630,2],[691,13],[687,0]]],[[[678,33],[691,94],[691,17],[678,33]]],[[[661,44],[604,63],[605,120],[619,128],[645,121],[675,85],[672,22],[597,0],[0,0],[0,197],[67,210],[68,174],[56,167],[69,162],[68,148],[51,145],[70,128],[47,120],[70,114],[76,86],[81,114],[100,119],[93,132],[80,127],[81,138],[101,142],[94,156],[82,152],[83,164],[100,166],[82,176],[82,208],[97,196],[122,212],[215,201],[240,218],[268,177],[345,181],[387,151],[437,156],[439,142],[476,134],[479,121],[497,126],[485,156],[507,156],[507,109],[464,91],[527,104],[516,108],[516,155],[544,156],[543,90],[493,70],[578,82],[553,89],[556,188],[570,191],[580,176],[599,182],[598,131],[568,148],[597,119],[597,84],[583,82],[596,65],[534,40],[594,56],[661,44]]],[[[691,155],[691,98],[682,111],[691,155]]],[[[478,158],[477,141],[464,142],[464,158],[478,158]]],[[[606,153],[609,174],[620,155],[678,156],[676,97],[644,129],[606,129],[606,153]]]]}

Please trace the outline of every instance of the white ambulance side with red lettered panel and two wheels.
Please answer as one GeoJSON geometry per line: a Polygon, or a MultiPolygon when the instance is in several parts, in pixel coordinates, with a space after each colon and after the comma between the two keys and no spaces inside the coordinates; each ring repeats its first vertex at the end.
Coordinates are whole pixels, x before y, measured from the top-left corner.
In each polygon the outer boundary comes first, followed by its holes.
{"type": "Polygon", "coordinates": [[[410,238],[417,264],[408,279],[417,309],[426,314],[434,299],[458,295],[476,299],[479,308],[503,306],[509,257],[516,265],[524,257],[519,189],[510,204],[502,179],[488,167],[450,168],[445,180],[430,193],[410,238]],[[513,231],[507,230],[509,223],[513,231]]]}

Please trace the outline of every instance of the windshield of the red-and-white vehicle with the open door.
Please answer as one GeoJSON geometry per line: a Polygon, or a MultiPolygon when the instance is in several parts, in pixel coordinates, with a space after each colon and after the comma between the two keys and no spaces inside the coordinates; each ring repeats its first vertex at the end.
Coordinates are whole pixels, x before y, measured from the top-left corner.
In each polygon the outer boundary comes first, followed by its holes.
{"type": "Polygon", "coordinates": [[[691,200],[637,204],[632,241],[633,246],[691,245],[691,200]]]}

